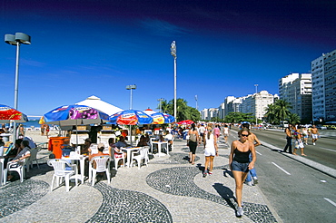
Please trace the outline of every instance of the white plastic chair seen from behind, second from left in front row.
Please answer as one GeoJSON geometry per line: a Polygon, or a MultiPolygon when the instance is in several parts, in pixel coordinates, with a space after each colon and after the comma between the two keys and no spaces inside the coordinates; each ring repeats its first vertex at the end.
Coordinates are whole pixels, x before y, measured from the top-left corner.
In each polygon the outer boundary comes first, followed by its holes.
{"type": "Polygon", "coordinates": [[[106,178],[107,178],[108,183],[110,184],[111,182],[110,156],[96,156],[92,160],[90,160],[89,180],[92,181],[92,186],[94,186],[94,181],[95,181],[94,179],[95,179],[97,172],[106,172],[106,178]]]}

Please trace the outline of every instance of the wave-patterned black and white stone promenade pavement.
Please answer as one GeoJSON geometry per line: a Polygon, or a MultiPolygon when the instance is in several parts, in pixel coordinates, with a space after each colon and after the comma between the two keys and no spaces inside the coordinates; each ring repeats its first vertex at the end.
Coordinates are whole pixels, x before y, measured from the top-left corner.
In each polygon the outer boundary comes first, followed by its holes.
{"type": "Polygon", "coordinates": [[[112,170],[111,184],[101,179],[92,187],[86,180],[65,192],[64,186],[50,191],[50,151],[41,150],[40,169],[0,189],[0,222],[281,222],[258,185],[244,185],[244,215],[235,216],[228,144],[219,144],[213,174],[206,178],[203,147],[197,148],[195,165],[188,152],[186,141],[176,140],[169,156],[152,156],[147,167],[112,170]]]}

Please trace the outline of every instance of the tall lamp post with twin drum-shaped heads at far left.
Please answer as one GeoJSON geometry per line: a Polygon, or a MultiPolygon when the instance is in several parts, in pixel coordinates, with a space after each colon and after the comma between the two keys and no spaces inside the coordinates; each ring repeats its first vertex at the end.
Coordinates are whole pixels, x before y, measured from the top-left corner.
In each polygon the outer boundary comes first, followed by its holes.
{"type": "MultiPolygon", "coordinates": [[[[19,91],[19,56],[20,44],[31,44],[30,36],[23,33],[5,34],[5,43],[16,45],[16,65],[15,65],[15,90],[14,90],[14,108],[17,110],[18,91],[19,91]]],[[[13,126],[13,141],[16,140],[16,123],[13,126]]]]}

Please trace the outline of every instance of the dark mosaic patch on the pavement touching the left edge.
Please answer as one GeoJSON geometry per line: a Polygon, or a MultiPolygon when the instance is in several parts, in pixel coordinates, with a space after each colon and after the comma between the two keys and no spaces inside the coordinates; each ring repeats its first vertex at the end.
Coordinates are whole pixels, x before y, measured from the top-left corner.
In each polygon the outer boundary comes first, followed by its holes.
{"type": "Polygon", "coordinates": [[[0,189],[0,220],[44,197],[49,184],[37,179],[15,180],[0,189]]]}

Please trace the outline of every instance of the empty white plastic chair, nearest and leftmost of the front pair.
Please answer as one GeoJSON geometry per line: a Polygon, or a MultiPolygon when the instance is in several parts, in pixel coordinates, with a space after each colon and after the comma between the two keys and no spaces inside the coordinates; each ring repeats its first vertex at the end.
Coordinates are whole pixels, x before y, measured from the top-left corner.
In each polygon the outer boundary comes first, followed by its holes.
{"type": "MultiPolygon", "coordinates": [[[[50,191],[53,191],[54,179],[56,179],[57,186],[59,186],[60,179],[64,178],[66,192],[69,192],[70,177],[78,174],[77,165],[69,164],[67,161],[60,160],[60,159],[48,160],[47,163],[49,166],[52,166],[54,168],[54,176],[52,180],[52,185],[50,187],[50,191]],[[71,167],[73,168],[73,170],[66,170],[67,167],[71,167]]],[[[78,179],[75,178],[76,187],[77,187],[77,184],[78,184],[78,179]]]]}

